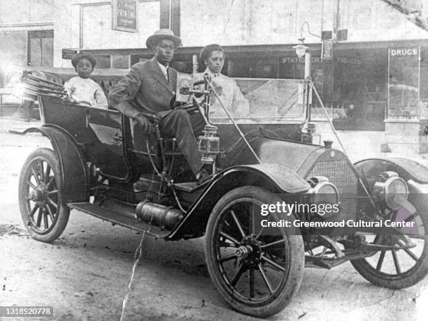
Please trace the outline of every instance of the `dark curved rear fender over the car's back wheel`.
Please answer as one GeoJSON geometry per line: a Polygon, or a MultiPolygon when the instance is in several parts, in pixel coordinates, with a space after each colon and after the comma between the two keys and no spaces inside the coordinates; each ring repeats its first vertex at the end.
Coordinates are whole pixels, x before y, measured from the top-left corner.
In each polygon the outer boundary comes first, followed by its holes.
{"type": "Polygon", "coordinates": [[[73,136],[63,128],[51,124],[28,128],[23,134],[27,133],[41,133],[49,138],[59,160],[65,202],[87,201],[89,188],[85,160],[73,136]]]}

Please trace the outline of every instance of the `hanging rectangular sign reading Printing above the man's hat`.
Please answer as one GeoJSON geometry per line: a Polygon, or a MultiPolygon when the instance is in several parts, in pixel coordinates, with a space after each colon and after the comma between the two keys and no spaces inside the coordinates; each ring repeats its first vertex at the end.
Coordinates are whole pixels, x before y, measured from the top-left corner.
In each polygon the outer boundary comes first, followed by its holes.
{"type": "Polygon", "coordinates": [[[113,29],[136,32],[136,0],[113,0],[113,29]]]}

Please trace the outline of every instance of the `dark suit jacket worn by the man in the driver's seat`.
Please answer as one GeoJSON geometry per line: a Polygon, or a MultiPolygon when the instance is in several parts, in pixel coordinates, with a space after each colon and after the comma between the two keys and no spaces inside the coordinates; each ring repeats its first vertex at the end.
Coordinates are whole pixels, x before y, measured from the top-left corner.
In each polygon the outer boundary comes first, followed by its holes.
{"type": "Polygon", "coordinates": [[[168,81],[155,57],[135,64],[124,79],[110,89],[111,104],[113,107],[134,106],[140,112],[150,114],[170,111],[169,102],[176,94],[177,70],[168,67],[167,72],[168,81]]]}

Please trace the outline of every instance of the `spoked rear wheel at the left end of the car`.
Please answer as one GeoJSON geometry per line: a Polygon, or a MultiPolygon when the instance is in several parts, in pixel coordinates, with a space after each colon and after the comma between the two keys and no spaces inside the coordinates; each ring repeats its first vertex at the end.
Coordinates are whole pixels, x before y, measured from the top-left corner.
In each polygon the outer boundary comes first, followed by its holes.
{"type": "Polygon", "coordinates": [[[33,151],[22,167],[19,200],[22,221],[31,237],[52,242],[69,221],[70,209],[62,199],[63,182],[54,151],[33,151]]]}

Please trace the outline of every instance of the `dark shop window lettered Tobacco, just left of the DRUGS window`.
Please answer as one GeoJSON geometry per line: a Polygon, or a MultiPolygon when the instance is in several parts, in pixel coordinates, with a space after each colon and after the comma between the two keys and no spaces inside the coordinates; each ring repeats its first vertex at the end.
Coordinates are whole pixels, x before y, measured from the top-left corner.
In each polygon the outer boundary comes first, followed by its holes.
{"type": "Polygon", "coordinates": [[[327,105],[331,106],[336,128],[384,130],[387,50],[336,50],[333,68],[334,85],[327,105]]]}

